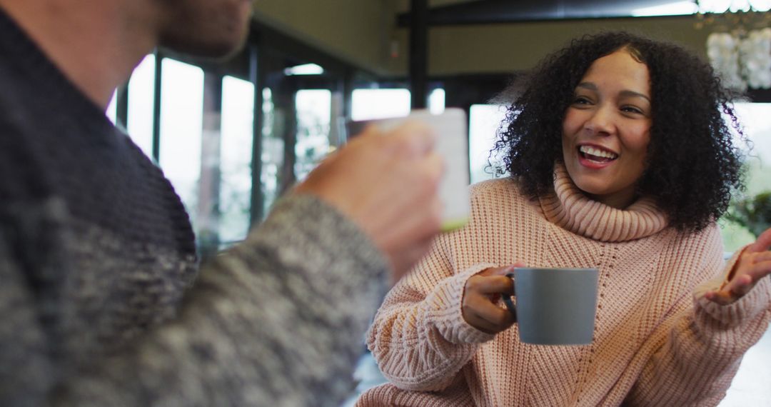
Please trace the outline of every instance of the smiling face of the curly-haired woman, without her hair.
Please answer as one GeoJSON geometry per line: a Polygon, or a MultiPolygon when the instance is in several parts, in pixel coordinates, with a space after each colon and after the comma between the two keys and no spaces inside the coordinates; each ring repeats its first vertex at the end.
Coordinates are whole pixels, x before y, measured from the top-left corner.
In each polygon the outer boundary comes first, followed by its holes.
{"type": "Polygon", "coordinates": [[[621,49],[594,61],[562,122],[562,155],[578,188],[611,207],[635,200],[651,140],[648,67],[621,49]]]}

